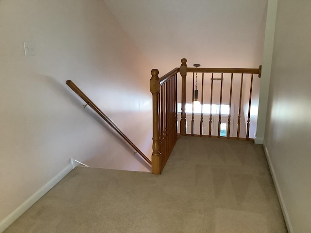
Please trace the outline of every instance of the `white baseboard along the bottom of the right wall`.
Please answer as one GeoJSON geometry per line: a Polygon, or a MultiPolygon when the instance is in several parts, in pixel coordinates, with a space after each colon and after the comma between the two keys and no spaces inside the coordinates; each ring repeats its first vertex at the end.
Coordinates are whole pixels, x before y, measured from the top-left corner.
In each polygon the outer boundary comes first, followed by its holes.
{"type": "Polygon", "coordinates": [[[268,161],[268,165],[269,165],[270,172],[271,172],[271,175],[272,175],[272,179],[273,179],[274,185],[276,187],[276,193],[277,193],[277,197],[278,197],[278,200],[280,202],[280,206],[281,206],[281,209],[282,209],[282,212],[283,212],[284,220],[285,220],[285,223],[286,223],[286,226],[287,226],[287,231],[288,231],[288,233],[294,233],[293,226],[292,226],[292,223],[291,223],[291,219],[290,219],[290,217],[288,215],[288,212],[287,212],[287,209],[286,209],[286,205],[285,205],[285,202],[284,202],[284,199],[283,199],[283,195],[282,195],[281,189],[280,189],[280,187],[278,185],[278,181],[277,181],[277,178],[276,178],[276,173],[275,173],[275,170],[273,168],[273,165],[272,165],[272,162],[271,162],[271,158],[270,158],[270,155],[269,155],[269,152],[268,152],[268,149],[267,149],[265,143],[263,143],[263,148],[264,148],[264,152],[265,152],[266,157],[267,157],[267,161],[268,161]]]}

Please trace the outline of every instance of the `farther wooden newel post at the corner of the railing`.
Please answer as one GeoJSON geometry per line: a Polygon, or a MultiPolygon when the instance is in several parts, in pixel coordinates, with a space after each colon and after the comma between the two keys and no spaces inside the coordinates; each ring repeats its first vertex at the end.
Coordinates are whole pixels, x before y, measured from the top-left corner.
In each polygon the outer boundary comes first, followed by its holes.
{"type": "Polygon", "coordinates": [[[187,59],[181,59],[180,75],[181,75],[181,120],[180,135],[186,135],[186,75],[187,75],[187,59]]]}

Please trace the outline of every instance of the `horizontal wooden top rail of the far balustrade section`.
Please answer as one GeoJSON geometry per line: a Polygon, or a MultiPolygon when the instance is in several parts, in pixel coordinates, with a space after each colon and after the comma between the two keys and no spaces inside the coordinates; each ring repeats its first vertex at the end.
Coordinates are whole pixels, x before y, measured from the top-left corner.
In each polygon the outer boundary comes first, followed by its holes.
{"type": "Polygon", "coordinates": [[[187,72],[230,73],[230,74],[260,74],[260,67],[258,69],[252,69],[252,68],[196,68],[196,67],[192,68],[192,67],[188,67],[187,68],[187,72]]]}

